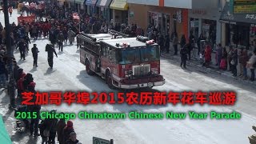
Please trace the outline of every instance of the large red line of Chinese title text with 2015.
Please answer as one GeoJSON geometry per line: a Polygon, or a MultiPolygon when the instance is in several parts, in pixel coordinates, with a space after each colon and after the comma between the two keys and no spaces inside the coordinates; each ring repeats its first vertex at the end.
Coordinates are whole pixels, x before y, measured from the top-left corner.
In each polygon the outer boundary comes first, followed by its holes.
{"type": "Polygon", "coordinates": [[[141,92],[141,93],[88,93],[88,92],[50,92],[50,93],[22,93],[22,105],[61,105],[62,102],[71,105],[78,103],[83,105],[88,104],[122,104],[128,105],[166,105],[168,103],[176,105],[231,105],[236,102],[236,93],[228,92],[141,92]]]}

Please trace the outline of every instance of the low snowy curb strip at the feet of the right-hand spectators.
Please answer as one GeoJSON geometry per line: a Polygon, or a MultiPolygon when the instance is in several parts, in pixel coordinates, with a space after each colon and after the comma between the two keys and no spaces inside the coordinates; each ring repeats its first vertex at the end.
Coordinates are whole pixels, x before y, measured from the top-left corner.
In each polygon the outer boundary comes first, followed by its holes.
{"type": "MultiPolygon", "coordinates": [[[[180,62],[180,58],[177,58],[177,56],[174,56],[174,55],[171,55],[172,58],[170,58],[170,56],[167,56],[167,55],[161,55],[162,58],[166,58],[166,59],[170,59],[170,60],[173,60],[175,62],[180,62]]],[[[197,68],[199,70],[202,70],[204,72],[207,72],[207,73],[211,73],[211,74],[218,74],[218,75],[221,75],[222,77],[227,77],[227,78],[232,78],[238,82],[242,82],[243,84],[250,84],[250,85],[254,85],[256,86],[256,82],[250,82],[248,80],[243,80],[242,78],[237,78],[237,77],[234,77],[232,74],[227,74],[226,72],[222,72],[222,71],[218,71],[218,70],[214,70],[214,67],[210,66],[210,68],[205,68],[205,67],[202,67],[202,65],[198,64],[198,63],[195,63],[195,62],[190,62],[190,61],[187,61],[186,64],[188,66],[192,66],[194,68],[197,68]]]]}

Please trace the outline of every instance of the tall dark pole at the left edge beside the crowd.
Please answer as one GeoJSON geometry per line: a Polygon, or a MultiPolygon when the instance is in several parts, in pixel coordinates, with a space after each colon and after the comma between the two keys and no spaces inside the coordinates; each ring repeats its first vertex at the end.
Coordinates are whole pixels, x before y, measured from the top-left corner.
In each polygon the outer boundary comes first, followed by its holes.
{"type": "Polygon", "coordinates": [[[9,84],[8,84],[8,94],[10,97],[9,108],[15,107],[15,88],[14,88],[14,70],[13,70],[13,55],[14,51],[11,47],[10,41],[10,22],[8,14],[8,0],[3,0],[3,10],[5,14],[5,25],[6,25],[6,50],[8,58],[8,71],[9,71],[9,84]]]}

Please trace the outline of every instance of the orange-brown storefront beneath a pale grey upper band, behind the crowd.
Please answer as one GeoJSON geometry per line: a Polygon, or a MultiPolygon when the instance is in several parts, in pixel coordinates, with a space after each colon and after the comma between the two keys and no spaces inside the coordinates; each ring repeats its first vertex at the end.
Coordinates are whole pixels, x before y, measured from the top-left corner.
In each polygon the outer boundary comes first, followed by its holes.
{"type": "Polygon", "coordinates": [[[127,0],[129,3],[129,23],[141,26],[143,30],[148,26],[155,26],[162,35],[176,32],[178,38],[185,34],[188,38],[188,8],[186,0],[162,1],[127,0]],[[174,7],[175,6],[175,7],[174,7]]]}

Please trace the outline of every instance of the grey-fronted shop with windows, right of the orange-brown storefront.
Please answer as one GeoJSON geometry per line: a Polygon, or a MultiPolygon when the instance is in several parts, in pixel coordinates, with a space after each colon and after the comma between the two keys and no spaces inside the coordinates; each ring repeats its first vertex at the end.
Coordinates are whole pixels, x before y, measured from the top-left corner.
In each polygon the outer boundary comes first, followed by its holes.
{"type": "MultiPolygon", "coordinates": [[[[200,34],[210,42],[215,50],[216,43],[221,43],[222,24],[219,22],[222,6],[220,1],[203,1],[197,2],[189,10],[189,34],[193,34],[197,42],[200,34]]],[[[197,45],[195,45],[197,46],[197,45]]]]}

